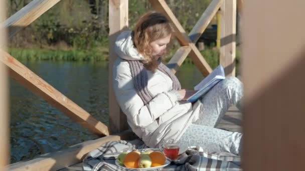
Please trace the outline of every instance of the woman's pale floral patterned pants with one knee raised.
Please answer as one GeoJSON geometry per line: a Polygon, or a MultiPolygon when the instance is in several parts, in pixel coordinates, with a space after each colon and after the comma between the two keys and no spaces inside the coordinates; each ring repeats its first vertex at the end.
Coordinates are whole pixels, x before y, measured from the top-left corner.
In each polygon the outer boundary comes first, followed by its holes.
{"type": "Polygon", "coordinates": [[[243,85],[236,77],[227,77],[216,84],[201,98],[199,119],[193,122],[178,140],[180,152],[189,146],[199,145],[206,152],[241,152],[239,132],[231,132],[215,126],[228,108],[236,104],[240,109],[243,85]]]}

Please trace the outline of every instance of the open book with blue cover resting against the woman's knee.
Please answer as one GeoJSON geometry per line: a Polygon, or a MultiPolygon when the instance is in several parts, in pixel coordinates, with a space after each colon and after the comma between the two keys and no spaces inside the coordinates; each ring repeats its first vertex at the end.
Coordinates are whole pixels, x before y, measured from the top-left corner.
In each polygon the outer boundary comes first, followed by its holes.
{"type": "Polygon", "coordinates": [[[197,90],[195,94],[190,96],[187,100],[194,102],[202,95],[207,93],[214,85],[225,78],[225,72],[221,65],[218,65],[208,76],[197,84],[194,89],[197,90]]]}

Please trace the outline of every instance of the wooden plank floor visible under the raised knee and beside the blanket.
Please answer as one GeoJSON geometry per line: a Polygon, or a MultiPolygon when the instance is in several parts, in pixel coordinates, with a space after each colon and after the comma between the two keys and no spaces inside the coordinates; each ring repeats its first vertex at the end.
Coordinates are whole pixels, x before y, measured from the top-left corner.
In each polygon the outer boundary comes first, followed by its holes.
{"type": "MultiPolygon", "coordinates": [[[[238,108],[236,106],[230,107],[217,127],[230,131],[241,132],[241,113],[238,110],[238,108]]],[[[77,171],[82,170],[81,162],[71,165],[67,168],[63,168],[60,171],[76,171],[76,170],[77,171]]]]}

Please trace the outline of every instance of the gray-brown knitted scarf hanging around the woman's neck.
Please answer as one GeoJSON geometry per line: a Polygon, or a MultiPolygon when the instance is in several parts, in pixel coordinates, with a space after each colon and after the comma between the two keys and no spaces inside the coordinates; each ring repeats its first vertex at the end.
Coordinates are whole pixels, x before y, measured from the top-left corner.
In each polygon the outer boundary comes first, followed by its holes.
{"type": "MultiPolygon", "coordinates": [[[[147,88],[148,84],[148,75],[146,72],[143,63],[140,60],[127,60],[129,63],[131,76],[133,79],[133,84],[136,90],[136,93],[141,97],[144,104],[147,104],[154,96],[150,93],[147,88]]],[[[159,60],[158,69],[161,70],[163,73],[170,76],[173,81],[173,89],[178,90],[181,89],[181,84],[176,77],[176,75],[159,60]]]]}

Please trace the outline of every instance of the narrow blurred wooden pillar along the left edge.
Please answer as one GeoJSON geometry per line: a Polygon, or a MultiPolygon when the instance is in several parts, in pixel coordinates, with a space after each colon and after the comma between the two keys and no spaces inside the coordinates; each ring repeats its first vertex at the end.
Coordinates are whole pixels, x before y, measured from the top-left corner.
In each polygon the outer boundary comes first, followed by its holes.
{"type": "MultiPolygon", "coordinates": [[[[0,23],[6,19],[6,3],[5,0],[0,0],[0,23]]],[[[0,44],[6,44],[6,40],[6,29],[0,27],[0,44]]],[[[4,49],[4,45],[1,48],[4,49]]],[[[2,52],[3,50],[0,50],[0,55],[3,55],[2,52]]],[[[8,103],[7,68],[0,62],[0,170],[6,170],[5,166],[10,162],[8,103]]]]}

